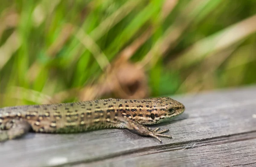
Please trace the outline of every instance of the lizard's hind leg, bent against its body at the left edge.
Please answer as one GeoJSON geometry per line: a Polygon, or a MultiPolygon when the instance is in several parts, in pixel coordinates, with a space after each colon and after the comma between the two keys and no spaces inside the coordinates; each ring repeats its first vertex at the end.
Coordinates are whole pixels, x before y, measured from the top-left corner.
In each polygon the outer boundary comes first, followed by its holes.
{"type": "Polygon", "coordinates": [[[0,142],[19,138],[29,132],[30,128],[30,124],[25,120],[12,120],[6,123],[6,130],[0,130],[0,142]]]}

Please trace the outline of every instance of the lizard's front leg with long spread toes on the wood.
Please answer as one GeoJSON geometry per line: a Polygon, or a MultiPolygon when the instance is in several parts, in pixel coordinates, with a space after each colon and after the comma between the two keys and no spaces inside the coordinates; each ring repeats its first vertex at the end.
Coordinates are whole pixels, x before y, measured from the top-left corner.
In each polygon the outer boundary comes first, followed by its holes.
{"type": "Polygon", "coordinates": [[[172,138],[172,136],[170,136],[170,135],[161,134],[161,133],[168,132],[169,131],[168,129],[158,131],[160,129],[158,127],[155,130],[151,130],[151,128],[149,128],[149,127],[146,127],[144,125],[141,125],[141,124],[138,124],[138,123],[135,123],[135,122],[131,122],[131,121],[125,122],[124,127],[129,129],[129,130],[135,130],[140,135],[151,136],[153,138],[157,138],[157,140],[159,140],[160,143],[162,143],[162,140],[159,137],[172,138]]]}

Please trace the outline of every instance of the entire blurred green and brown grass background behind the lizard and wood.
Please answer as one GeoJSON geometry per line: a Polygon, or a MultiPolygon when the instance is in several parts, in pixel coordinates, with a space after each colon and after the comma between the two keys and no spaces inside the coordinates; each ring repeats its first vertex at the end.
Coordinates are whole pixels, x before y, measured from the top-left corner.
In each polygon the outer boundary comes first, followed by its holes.
{"type": "Polygon", "coordinates": [[[255,0],[1,0],[0,106],[256,83],[255,0]]]}

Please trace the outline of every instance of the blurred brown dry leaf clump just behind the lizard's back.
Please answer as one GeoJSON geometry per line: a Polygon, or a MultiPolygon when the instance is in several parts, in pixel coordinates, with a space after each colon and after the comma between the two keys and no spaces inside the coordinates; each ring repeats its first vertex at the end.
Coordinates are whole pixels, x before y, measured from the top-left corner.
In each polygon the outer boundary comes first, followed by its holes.
{"type": "Polygon", "coordinates": [[[128,61],[113,65],[98,83],[86,86],[80,92],[79,100],[93,100],[111,94],[126,99],[145,98],[148,84],[143,69],[128,61]]]}

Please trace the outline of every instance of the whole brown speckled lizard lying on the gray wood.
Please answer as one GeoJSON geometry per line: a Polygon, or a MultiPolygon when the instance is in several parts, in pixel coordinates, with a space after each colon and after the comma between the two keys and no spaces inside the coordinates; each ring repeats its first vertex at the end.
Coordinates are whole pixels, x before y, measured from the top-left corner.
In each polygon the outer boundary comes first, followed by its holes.
{"type": "Polygon", "coordinates": [[[148,99],[108,98],[60,104],[0,108],[0,141],[19,138],[29,131],[74,133],[106,128],[134,130],[142,136],[172,138],[145,125],[159,124],[180,115],[183,104],[169,97],[148,99]]]}

